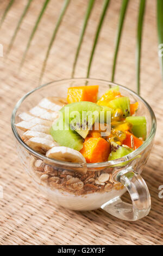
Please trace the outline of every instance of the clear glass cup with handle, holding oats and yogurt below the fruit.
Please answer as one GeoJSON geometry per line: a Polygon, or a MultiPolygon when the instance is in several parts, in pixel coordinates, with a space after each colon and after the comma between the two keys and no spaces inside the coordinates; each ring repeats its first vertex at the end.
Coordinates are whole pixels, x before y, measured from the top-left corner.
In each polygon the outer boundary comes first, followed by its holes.
{"type": "Polygon", "coordinates": [[[79,164],[49,159],[28,147],[21,138],[22,131],[18,131],[15,126],[20,121],[18,115],[28,112],[43,97],[66,97],[68,87],[95,84],[99,85],[99,97],[109,87],[117,86],[104,80],[74,78],[44,84],[23,96],[11,117],[17,153],[35,185],[56,204],[79,211],[102,208],[122,220],[136,221],[148,215],[151,209],[148,187],[140,174],[151,152],[156,131],[152,108],[139,95],[118,85],[122,95],[129,96],[131,103],[139,102],[136,115],[146,117],[147,139],[141,147],[114,161],[79,164]],[[132,204],[121,199],[126,191],[130,194],[132,204]]]}

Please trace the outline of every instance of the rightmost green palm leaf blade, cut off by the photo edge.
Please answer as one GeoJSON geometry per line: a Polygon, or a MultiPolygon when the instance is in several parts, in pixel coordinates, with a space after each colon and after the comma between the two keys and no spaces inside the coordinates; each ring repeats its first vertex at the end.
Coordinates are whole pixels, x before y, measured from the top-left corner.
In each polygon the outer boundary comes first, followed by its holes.
{"type": "MultiPolygon", "coordinates": [[[[163,1],[158,0],[157,1],[157,23],[158,23],[158,42],[159,42],[159,48],[163,47],[163,1]]],[[[160,57],[160,68],[161,68],[161,75],[163,80],[163,56],[162,56],[162,50],[159,53],[160,57]]]]}

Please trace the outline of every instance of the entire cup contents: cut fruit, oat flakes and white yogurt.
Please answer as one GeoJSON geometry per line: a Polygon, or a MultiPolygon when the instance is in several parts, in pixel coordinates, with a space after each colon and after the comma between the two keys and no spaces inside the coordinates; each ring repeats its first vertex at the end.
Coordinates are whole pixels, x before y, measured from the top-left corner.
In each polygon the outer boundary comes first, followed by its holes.
{"type": "Polygon", "coordinates": [[[114,167],[90,169],[87,163],[126,156],[146,139],[146,118],[136,115],[139,103],[131,103],[118,86],[101,97],[98,89],[70,87],[67,99],[45,97],[28,112],[20,113],[16,124],[24,143],[59,161],[32,154],[30,175],[41,189],[49,188],[55,202],[74,210],[96,209],[117,193],[124,193],[123,185],[112,179],[114,167]],[[81,168],[75,164],[70,168],[66,162],[80,163],[81,168]]]}

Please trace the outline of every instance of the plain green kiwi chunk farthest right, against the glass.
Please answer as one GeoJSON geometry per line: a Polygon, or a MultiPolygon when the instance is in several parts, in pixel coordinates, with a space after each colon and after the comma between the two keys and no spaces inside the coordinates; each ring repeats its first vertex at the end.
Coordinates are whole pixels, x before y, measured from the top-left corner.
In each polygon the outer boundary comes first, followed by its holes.
{"type": "Polygon", "coordinates": [[[147,136],[147,121],[145,117],[127,117],[126,121],[132,125],[132,132],[138,138],[145,141],[147,136]]]}

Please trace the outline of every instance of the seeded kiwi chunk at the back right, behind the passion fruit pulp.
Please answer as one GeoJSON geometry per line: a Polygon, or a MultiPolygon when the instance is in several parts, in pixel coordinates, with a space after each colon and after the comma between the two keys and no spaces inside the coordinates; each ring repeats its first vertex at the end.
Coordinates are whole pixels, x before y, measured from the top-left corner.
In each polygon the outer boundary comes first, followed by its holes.
{"type": "Polygon", "coordinates": [[[121,108],[123,111],[123,117],[130,115],[130,100],[129,97],[118,97],[115,100],[109,102],[109,107],[117,109],[121,108]]]}

